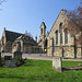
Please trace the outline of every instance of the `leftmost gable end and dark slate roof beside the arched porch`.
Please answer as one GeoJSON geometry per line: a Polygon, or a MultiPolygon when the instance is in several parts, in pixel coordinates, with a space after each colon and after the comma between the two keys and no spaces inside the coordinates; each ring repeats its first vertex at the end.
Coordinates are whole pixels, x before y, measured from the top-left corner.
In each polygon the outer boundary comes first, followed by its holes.
{"type": "Polygon", "coordinates": [[[11,52],[12,44],[14,43],[15,38],[17,38],[19,36],[21,36],[21,34],[7,31],[4,27],[4,31],[1,37],[1,51],[11,52]]]}

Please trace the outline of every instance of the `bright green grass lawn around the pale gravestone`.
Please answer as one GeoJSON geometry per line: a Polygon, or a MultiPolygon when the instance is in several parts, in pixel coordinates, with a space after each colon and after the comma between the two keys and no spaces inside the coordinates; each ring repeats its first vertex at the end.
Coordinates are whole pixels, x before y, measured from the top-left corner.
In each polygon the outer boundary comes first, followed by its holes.
{"type": "MultiPolygon", "coordinates": [[[[63,67],[78,66],[82,61],[63,61],[63,67]]],[[[57,72],[50,60],[25,60],[17,68],[1,68],[0,82],[82,82],[82,70],[57,72]]]]}

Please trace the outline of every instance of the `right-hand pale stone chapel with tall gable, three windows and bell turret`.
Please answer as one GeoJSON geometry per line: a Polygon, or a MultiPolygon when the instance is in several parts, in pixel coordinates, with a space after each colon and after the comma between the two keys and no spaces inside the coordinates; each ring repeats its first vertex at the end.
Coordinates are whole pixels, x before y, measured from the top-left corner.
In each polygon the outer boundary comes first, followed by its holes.
{"type": "Polygon", "coordinates": [[[49,33],[46,34],[46,25],[43,22],[40,25],[40,35],[38,45],[43,50],[47,49],[47,56],[58,56],[63,58],[82,58],[81,46],[74,45],[74,37],[65,30],[65,19],[69,19],[68,15],[60,11],[56,22],[54,23],[49,33]],[[65,14],[65,16],[62,15],[65,14]]]}

